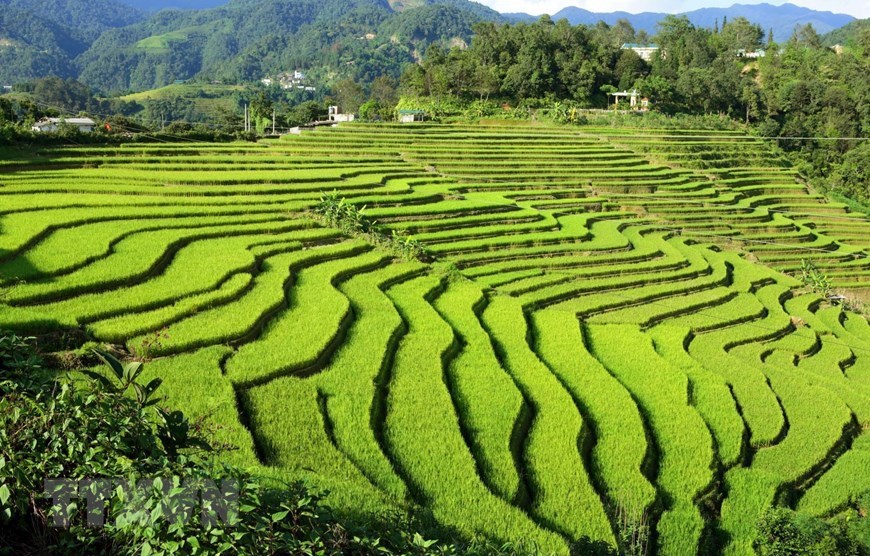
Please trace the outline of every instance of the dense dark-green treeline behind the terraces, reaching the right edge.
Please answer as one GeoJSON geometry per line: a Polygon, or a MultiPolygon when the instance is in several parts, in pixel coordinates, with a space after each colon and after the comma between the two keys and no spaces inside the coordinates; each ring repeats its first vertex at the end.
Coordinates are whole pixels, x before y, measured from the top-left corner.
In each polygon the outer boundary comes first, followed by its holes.
{"type": "Polygon", "coordinates": [[[669,16],[647,62],[621,48],[647,39],[624,20],[612,27],[547,16],[531,24],[484,22],[475,26],[470,48],[431,46],[401,85],[425,99],[577,108],[605,108],[608,93],[637,89],[659,112],[720,114],[750,124],[776,138],[817,184],[867,202],[870,30],[855,29],[834,51],[811,25],[779,44],[744,18],[706,29],[669,16]]]}

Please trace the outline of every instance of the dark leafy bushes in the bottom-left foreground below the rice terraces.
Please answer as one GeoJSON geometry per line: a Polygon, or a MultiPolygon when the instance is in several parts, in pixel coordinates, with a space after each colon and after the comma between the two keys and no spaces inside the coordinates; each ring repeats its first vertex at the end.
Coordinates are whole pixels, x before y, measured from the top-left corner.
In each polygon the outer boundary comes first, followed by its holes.
{"type": "Polygon", "coordinates": [[[0,334],[0,554],[507,550],[343,524],[305,485],[216,464],[202,423],[158,407],[158,379],[143,385],[140,363],[99,356],[105,373],[58,378],[32,339],[0,334]]]}

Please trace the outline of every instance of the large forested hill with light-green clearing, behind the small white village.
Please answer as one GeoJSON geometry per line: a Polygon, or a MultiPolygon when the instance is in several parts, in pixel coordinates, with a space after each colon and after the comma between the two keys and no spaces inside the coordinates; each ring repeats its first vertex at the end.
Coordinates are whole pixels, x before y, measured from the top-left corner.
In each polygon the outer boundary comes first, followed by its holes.
{"type": "Polygon", "coordinates": [[[106,32],[83,54],[80,79],[103,91],[149,89],[202,75],[253,81],[294,69],[331,68],[357,80],[398,77],[429,43],[469,41],[498,19],[452,0],[395,12],[384,0],[233,0],[201,11],[164,11],[106,32]]]}

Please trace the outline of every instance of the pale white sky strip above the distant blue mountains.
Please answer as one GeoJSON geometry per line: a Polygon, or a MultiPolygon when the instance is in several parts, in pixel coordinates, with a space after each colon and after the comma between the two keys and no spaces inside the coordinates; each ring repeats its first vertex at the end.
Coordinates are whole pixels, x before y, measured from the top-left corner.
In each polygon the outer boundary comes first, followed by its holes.
{"type": "MultiPolygon", "coordinates": [[[[566,6],[577,6],[593,12],[616,12],[629,13],[639,12],[688,12],[698,8],[721,7],[739,4],[760,4],[752,0],[656,0],[655,2],[642,0],[477,0],[481,4],[496,9],[500,12],[526,12],[534,15],[549,13],[554,14],[566,6]]],[[[783,4],[784,2],[770,1],[768,4],[783,4]]],[[[870,17],[870,0],[791,0],[792,4],[812,8],[814,10],[844,13],[858,18],[870,17]]]]}

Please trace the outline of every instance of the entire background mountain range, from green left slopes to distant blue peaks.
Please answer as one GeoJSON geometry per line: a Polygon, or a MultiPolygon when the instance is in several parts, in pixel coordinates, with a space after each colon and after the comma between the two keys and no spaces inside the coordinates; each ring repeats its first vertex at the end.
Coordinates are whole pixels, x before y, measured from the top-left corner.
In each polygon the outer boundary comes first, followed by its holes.
{"type": "MultiPolygon", "coordinates": [[[[553,19],[624,18],[653,34],[665,15],[565,8],[553,19]]],[[[744,16],[773,29],[777,40],[796,24],[812,23],[821,33],[854,20],[791,4],[686,15],[705,27],[744,16]]],[[[0,85],[56,75],[117,93],[194,76],[255,81],[292,69],[370,81],[397,77],[432,43],[468,43],[477,22],[534,19],[469,0],[0,0],[0,85]],[[186,9],[162,9],[171,7],[186,9]]]]}

